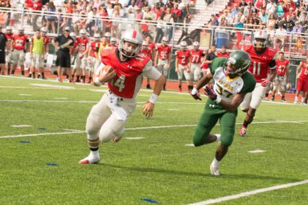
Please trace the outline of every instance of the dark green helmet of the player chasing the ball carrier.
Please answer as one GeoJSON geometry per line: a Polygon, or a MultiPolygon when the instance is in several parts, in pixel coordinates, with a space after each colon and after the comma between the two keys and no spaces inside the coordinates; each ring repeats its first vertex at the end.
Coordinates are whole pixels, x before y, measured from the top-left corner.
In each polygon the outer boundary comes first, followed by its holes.
{"type": "Polygon", "coordinates": [[[248,53],[242,50],[234,51],[227,60],[227,64],[224,67],[224,74],[233,79],[242,76],[248,70],[249,66],[251,66],[251,57],[248,53]],[[227,69],[229,64],[234,65],[237,69],[235,71],[227,69]]]}

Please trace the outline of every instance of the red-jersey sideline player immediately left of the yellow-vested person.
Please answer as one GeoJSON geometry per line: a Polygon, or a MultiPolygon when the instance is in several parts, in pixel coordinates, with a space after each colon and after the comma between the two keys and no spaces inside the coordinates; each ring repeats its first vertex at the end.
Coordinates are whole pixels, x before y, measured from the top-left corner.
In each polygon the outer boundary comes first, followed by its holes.
{"type": "Polygon", "coordinates": [[[28,36],[25,35],[23,27],[18,29],[18,33],[13,36],[12,39],[12,59],[13,59],[13,69],[12,75],[14,75],[15,69],[19,62],[19,66],[21,66],[21,76],[25,77],[25,46],[29,42],[28,36]]]}

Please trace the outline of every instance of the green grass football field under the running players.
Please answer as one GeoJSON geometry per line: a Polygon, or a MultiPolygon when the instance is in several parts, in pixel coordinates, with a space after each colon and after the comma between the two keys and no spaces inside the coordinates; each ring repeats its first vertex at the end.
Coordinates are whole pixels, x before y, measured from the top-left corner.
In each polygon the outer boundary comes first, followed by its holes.
{"type": "Polygon", "coordinates": [[[263,102],[247,137],[239,111],[222,175],[211,176],[218,142],[190,146],[205,96],[164,92],[146,119],[151,92],[141,90],[123,139],[101,144],[99,164],[79,165],[89,153],[86,118],[105,89],[0,77],[0,204],[206,204],[257,189],[222,204],[308,203],[307,106],[263,102]]]}

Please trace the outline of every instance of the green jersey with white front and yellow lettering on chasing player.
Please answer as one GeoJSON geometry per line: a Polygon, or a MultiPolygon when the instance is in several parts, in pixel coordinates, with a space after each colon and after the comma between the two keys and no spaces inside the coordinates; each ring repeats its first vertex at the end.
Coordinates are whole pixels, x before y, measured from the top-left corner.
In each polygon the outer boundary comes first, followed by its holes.
{"type": "Polygon", "coordinates": [[[250,72],[245,72],[240,77],[233,79],[224,74],[227,58],[217,57],[211,62],[210,71],[214,79],[214,91],[224,101],[231,102],[235,94],[253,92],[255,77],[250,72]]]}

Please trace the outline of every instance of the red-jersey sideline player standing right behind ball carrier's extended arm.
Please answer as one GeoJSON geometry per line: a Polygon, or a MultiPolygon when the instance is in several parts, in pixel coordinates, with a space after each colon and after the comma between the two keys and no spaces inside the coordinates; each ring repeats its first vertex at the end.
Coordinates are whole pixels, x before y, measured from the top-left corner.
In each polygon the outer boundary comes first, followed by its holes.
{"type": "Polygon", "coordinates": [[[168,46],[168,37],[162,38],[162,44],[156,46],[156,54],[154,59],[154,67],[161,72],[166,82],[164,83],[163,90],[166,90],[166,83],[168,79],[168,70],[170,68],[172,46],[168,46]]]}

